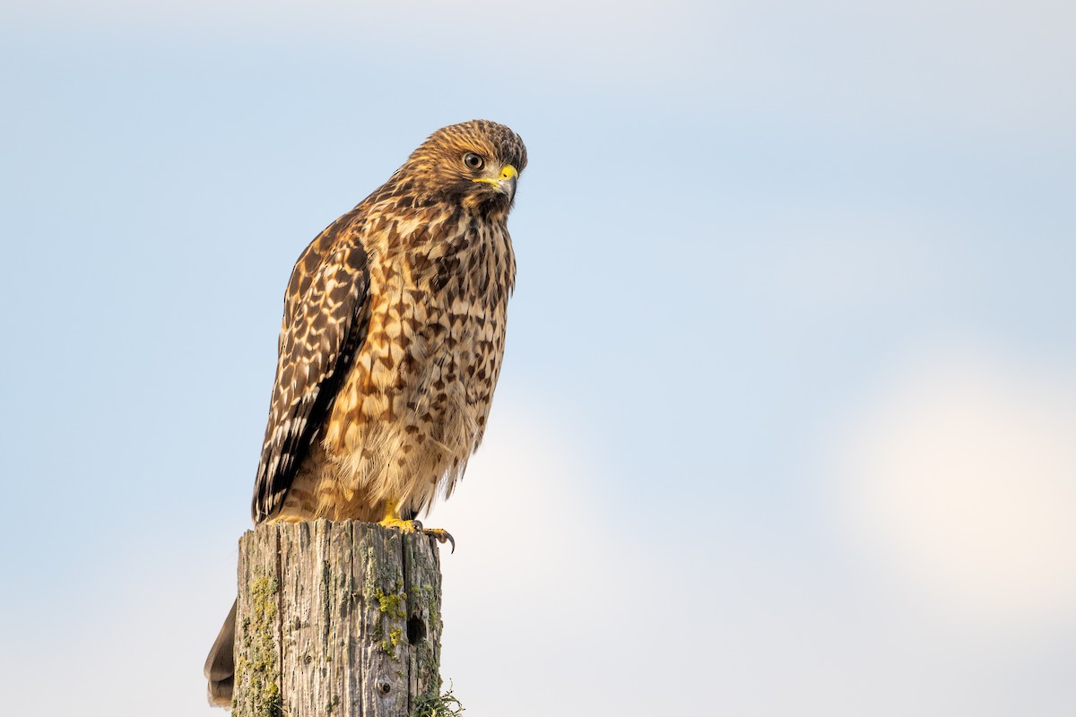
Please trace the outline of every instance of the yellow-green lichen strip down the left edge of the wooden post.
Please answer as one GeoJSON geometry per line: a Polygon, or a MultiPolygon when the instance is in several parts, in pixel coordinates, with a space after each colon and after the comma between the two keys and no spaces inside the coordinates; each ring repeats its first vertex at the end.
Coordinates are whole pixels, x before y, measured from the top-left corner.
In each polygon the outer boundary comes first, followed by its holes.
{"type": "Polygon", "coordinates": [[[258,577],[250,586],[251,615],[243,618],[236,659],[236,680],[247,687],[232,702],[236,717],[281,717],[280,664],[273,628],[277,621],[277,580],[258,577]]]}

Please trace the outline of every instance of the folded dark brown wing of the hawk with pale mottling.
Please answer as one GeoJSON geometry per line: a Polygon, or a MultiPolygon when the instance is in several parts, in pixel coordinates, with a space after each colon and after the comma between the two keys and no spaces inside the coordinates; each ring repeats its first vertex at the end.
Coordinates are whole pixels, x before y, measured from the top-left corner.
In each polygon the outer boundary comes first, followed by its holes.
{"type": "Polygon", "coordinates": [[[332,405],[355,350],[369,288],[368,258],[348,215],[315,240],[295,266],[280,335],[261,460],[251,513],[271,517],[332,405]]]}

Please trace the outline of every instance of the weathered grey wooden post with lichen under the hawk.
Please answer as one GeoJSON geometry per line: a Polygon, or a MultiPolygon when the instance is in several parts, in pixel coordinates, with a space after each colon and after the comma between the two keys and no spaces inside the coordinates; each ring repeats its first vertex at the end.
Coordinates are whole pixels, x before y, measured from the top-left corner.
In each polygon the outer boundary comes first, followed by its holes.
{"type": "Polygon", "coordinates": [[[240,539],[233,717],[408,717],[440,659],[431,537],[317,520],[240,539]]]}

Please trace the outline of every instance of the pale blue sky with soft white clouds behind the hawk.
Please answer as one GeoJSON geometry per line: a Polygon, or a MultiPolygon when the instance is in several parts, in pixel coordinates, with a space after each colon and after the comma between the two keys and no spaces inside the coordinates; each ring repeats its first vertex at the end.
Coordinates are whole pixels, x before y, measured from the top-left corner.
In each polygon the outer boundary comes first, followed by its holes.
{"type": "Polygon", "coordinates": [[[5,3],[13,714],[221,714],[292,263],[471,117],[530,164],[428,521],[468,715],[1072,714],[1074,20],[5,3]]]}

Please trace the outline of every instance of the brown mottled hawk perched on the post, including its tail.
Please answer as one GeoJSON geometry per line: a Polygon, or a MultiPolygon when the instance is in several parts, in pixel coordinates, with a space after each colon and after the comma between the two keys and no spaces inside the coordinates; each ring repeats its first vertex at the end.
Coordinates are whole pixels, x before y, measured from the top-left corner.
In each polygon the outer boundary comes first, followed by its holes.
{"type": "MultiPolygon", "coordinates": [[[[314,239],[284,298],[254,522],[414,520],[478,447],[505,352],[508,213],[526,147],[475,119],[434,132],[314,239]]],[[[442,542],[448,533],[425,532],[442,542]]],[[[235,606],[206,661],[231,703],[235,606]]]]}

